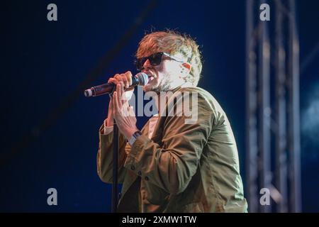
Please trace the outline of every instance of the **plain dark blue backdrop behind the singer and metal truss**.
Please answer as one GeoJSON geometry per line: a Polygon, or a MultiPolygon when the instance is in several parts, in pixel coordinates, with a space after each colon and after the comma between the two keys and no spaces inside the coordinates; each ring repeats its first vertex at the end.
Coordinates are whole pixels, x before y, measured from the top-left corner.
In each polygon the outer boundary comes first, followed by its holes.
{"type": "MultiPolygon", "coordinates": [[[[1,6],[0,211],[110,211],[111,187],[96,175],[98,129],[108,97],[79,96],[52,126],[36,126],[52,114],[114,47],[149,1],[6,1],[1,6]],[[58,21],[47,21],[55,3],[58,21]],[[21,144],[25,135],[37,135],[21,144]],[[47,206],[47,189],[58,206],[47,206]]],[[[301,62],[319,42],[319,2],[297,1],[301,62]]],[[[272,14],[273,15],[273,14],[272,14]]],[[[203,87],[216,97],[233,126],[245,184],[245,1],[161,1],[128,43],[88,84],[135,71],[133,55],[145,31],[177,29],[196,38],[203,52],[203,87]]],[[[319,56],[301,74],[301,113],[319,100],[319,56]]],[[[316,107],[313,107],[315,110],[316,107]]],[[[318,107],[317,107],[318,108],[318,107]]],[[[308,111],[308,112],[307,112],[308,111]]],[[[310,111],[311,113],[311,111],[310,111]]],[[[317,123],[306,114],[301,123],[317,123]]],[[[139,126],[145,122],[140,118],[139,126]]],[[[303,211],[319,211],[318,128],[302,134],[303,211]],[[310,136],[311,135],[311,136],[310,136]]]]}

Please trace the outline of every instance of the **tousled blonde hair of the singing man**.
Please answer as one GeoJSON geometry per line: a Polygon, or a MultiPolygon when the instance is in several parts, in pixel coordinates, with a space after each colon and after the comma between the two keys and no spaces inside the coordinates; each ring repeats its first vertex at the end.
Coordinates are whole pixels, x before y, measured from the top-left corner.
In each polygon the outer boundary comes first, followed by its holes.
{"type": "Polygon", "coordinates": [[[186,78],[194,86],[197,86],[201,77],[201,52],[198,45],[189,35],[175,31],[158,31],[145,35],[138,45],[136,57],[146,57],[155,52],[167,52],[170,55],[180,53],[185,62],[191,64],[191,72],[186,78]]]}

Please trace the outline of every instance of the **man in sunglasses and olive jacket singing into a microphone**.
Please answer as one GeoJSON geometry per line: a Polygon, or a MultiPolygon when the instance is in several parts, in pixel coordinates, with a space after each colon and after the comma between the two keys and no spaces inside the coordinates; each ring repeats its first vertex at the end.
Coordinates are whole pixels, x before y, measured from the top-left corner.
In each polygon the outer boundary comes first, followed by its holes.
{"type": "Polygon", "coordinates": [[[201,53],[188,35],[172,31],[145,35],[136,66],[149,82],[158,115],[142,129],[128,104],[130,72],[108,82],[116,91],[108,118],[99,130],[97,170],[103,182],[113,180],[113,118],[118,125],[118,182],[123,183],[119,212],[246,212],[237,146],[228,118],[216,99],[197,87],[201,53]],[[196,94],[187,122],[186,101],[175,94],[196,94]],[[162,102],[162,96],[170,94],[162,102]],[[177,111],[176,111],[177,110],[177,111]]]}

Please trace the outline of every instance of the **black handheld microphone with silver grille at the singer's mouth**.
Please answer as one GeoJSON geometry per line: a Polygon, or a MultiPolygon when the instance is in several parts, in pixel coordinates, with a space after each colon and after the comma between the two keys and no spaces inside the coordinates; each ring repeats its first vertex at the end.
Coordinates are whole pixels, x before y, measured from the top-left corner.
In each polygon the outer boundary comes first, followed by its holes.
{"type": "MultiPolygon", "coordinates": [[[[148,83],[148,76],[144,72],[139,72],[135,75],[135,77],[132,77],[132,84],[130,84],[130,87],[138,86],[144,86],[148,83]]],[[[113,89],[115,87],[115,84],[113,83],[107,83],[107,84],[101,84],[95,87],[91,87],[90,89],[86,89],[84,91],[84,96],[86,97],[92,97],[92,96],[99,96],[102,94],[109,94],[113,92],[113,89]]]]}

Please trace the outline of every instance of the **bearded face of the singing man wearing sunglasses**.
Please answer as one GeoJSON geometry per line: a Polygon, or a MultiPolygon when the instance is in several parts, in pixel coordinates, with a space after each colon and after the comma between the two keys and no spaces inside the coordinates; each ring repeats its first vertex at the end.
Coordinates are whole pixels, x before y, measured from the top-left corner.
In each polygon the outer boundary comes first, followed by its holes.
{"type": "MultiPolygon", "coordinates": [[[[147,56],[152,54],[150,52],[147,56]]],[[[143,67],[142,72],[145,72],[149,78],[149,82],[143,87],[144,92],[166,92],[179,86],[182,82],[181,62],[167,56],[163,56],[162,62],[155,66],[150,64],[150,60],[146,60],[143,67]]]]}

